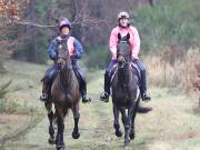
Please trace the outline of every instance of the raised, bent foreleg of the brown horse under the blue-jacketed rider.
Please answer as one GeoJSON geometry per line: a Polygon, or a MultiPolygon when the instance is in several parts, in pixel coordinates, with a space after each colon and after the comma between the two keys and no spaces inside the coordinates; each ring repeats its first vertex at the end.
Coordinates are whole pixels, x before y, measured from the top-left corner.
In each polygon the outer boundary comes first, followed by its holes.
{"type": "Polygon", "coordinates": [[[77,103],[71,110],[73,112],[73,120],[74,120],[74,128],[73,128],[73,132],[72,132],[72,138],[79,139],[79,137],[80,137],[80,133],[79,133],[79,118],[80,118],[79,103],[77,103]]]}

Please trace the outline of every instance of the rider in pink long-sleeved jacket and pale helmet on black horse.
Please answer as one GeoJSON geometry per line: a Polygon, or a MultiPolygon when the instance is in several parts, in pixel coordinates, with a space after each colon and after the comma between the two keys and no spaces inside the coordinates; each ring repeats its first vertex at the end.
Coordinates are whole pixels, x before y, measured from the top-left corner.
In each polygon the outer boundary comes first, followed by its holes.
{"type": "Polygon", "coordinates": [[[131,59],[132,62],[136,63],[140,70],[141,73],[141,98],[143,101],[150,101],[151,97],[147,92],[147,79],[146,79],[146,69],[139,59],[138,54],[140,51],[140,37],[138,33],[138,30],[136,27],[130,24],[130,17],[129,13],[126,11],[122,11],[118,14],[118,22],[119,26],[116,27],[111,31],[110,41],[109,41],[109,49],[112,54],[112,59],[110,63],[108,64],[104,73],[104,91],[101,93],[100,99],[104,102],[109,101],[110,96],[110,71],[113,68],[113,66],[117,63],[117,46],[118,46],[118,33],[121,34],[121,37],[130,34],[129,43],[131,48],[131,59]]]}

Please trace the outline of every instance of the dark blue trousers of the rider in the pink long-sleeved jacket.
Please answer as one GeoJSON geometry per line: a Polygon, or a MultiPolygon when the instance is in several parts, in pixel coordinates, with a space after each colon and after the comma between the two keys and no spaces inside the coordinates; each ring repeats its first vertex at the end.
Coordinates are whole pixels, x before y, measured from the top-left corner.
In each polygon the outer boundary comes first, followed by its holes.
{"type": "MultiPolygon", "coordinates": [[[[110,94],[110,74],[109,73],[116,63],[118,63],[117,60],[111,60],[106,69],[106,73],[104,73],[104,91],[108,92],[109,94],[110,94]]],[[[134,59],[133,63],[136,63],[138,66],[138,68],[140,69],[140,72],[141,72],[140,91],[141,91],[141,93],[144,93],[147,91],[146,68],[143,67],[140,59],[134,59]]]]}

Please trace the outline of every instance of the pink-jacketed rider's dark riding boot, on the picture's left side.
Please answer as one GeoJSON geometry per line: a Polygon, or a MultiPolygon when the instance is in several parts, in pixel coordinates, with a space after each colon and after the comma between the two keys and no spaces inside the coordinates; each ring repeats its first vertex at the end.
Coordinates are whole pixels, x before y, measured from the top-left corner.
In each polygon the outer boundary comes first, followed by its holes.
{"type": "Polygon", "coordinates": [[[104,91],[100,96],[101,101],[109,102],[109,94],[110,94],[110,78],[109,78],[109,74],[106,72],[104,73],[104,91]]]}

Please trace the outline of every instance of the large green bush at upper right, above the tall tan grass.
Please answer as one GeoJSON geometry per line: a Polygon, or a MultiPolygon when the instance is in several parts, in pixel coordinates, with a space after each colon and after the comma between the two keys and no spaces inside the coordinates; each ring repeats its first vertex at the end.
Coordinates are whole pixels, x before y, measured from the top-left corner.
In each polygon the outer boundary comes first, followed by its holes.
{"type": "Polygon", "coordinates": [[[199,46],[199,6],[198,0],[159,0],[154,7],[134,10],[132,22],[139,29],[142,50],[158,52],[172,44],[188,50],[199,46]]]}

